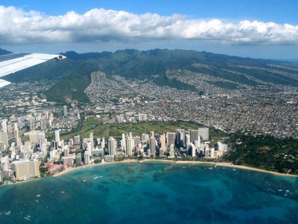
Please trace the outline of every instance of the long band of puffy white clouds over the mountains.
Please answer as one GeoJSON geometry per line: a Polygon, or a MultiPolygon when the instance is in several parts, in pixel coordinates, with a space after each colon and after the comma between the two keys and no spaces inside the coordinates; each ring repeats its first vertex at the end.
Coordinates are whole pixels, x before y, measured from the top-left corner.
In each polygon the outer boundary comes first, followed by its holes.
{"type": "Polygon", "coordinates": [[[202,40],[226,44],[298,44],[298,25],[219,19],[188,19],[181,14],[91,9],[51,16],[0,6],[0,44],[80,43],[96,41],[202,40]]]}

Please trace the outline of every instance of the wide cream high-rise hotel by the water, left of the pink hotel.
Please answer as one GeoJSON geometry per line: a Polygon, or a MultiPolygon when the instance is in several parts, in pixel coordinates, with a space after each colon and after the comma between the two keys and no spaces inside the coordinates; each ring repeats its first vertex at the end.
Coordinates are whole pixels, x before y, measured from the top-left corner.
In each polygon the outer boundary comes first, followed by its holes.
{"type": "Polygon", "coordinates": [[[39,177],[39,162],[37,159],[16,160],[11,163],[17,180],[39,177]]]}

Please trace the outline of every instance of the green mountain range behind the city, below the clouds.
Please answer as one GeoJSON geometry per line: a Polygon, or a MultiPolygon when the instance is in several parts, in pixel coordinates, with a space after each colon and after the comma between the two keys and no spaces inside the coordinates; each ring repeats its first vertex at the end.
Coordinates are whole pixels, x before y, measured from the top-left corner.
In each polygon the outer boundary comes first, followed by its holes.
{"type": "MultiPolygon", "coordinates": [[[[0,54],[11,53],[0,49],[0,54]]],[[[74,100],[87,102],[84,89],[91,82],[92,71],[105,72],[125,78],[149,79],[156,85],[178,89],[196,90],[194,86],[176,79],[169,79],[166,71],[182,69],[211,77],[221,78],[222,88],[229,88],[230,82],[256,87],[254,79],[274,85],[298,87],[298,64],[265,59],[242,58],[194,50],[135,49],[116,52],[91,52],[79,54],[74,51],[60,53],[67,59],[50,60],[46,63],[16,72],[5,77],[10,82],[59,80],[45,92],[48,100],[64,102],[69,96],[74,100]],[[253,77],[247,78],[247,77],[253,77]]]]}

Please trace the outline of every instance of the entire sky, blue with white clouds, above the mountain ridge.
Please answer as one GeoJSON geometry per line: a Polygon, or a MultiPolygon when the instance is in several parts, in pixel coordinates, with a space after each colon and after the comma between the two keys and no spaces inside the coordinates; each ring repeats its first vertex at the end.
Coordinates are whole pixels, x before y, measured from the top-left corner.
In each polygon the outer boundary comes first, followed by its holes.
{"type": "MultiPolygon", "coordinates": [[[[1,0],[0,5],[4,6],[7,15],[11,15],[7,21],[15,23],[15,17],[23,19],[20,19],[23,24],[18,23],[18,28],[3,34],[2,41],[0,28],[0,47],[13,51],[52,53],[182,48],[255,58],[298,59],[298,0],[1,0]],[[89,20],[82,22],[84,13],[93,8],[116,12],[96,11],[92,15],[94,24],[89,20]],[[36,15],[30,10],[37,11],[39,17],[34,17],[36,15]],[[110,20],[113,16],[120,16],[120,10],[128,14],[111,25],[110,20]],[[70,11],[76,14],[66,16],[70,11]],[[151,13],[149,16],[141,16],[148,12],[151,13]],[[174,13],[185,17],[173,17],[174,13]],[[67,25],[57,22],[59,15],[65,16],[67,25]],[[38,28],[32,30],[27,18],[34,20],[35,25],[37,19],[40,23],[38,28]],[[106,24],[98,22],[102,18],[106,18],[106,24]],[[121,30],[126,27],[125,20],[129,20],[129,31],[128,28],[121,30]],[[244,20],[248,20],[249,24],[242,23],[244,20]],[[253,23],[254,20],[259,23],[253,23]],[[81,27],[77,25],[79,22],[82,22],[81,27]],[[56,26],[53,26],[54,23],[56,26]],[[285,26],[285,23],[291,24],[291,27],[285,26]],[[118,24],[122,27],[119,28],[118,24]],[[176,24],[180,26],[176,27],[176,24]],[[84,30],[89,26],[90,29],[84,30]],[[44,27],[48,27],[47,30],[44,27]],[[80,33],[77,32],[79,29],[82,30],[80,33]],[[55,39],[55,35],[63,36],[64,41],[55,39]]],[[[4,21],[4,16],[1,21],[0,17],[0,26],[1,22],[2,27],[8,24],[7,21],[4,21]]],[[[9,28],[14,27],[14,23],[9,28]]]]}

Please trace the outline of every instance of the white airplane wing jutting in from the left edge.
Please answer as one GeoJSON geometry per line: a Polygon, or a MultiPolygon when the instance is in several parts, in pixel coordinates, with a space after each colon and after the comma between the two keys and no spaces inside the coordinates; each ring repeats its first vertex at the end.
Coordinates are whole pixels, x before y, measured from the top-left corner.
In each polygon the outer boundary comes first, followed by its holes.
{"type": "MultiPolygon", "coordinates": [[[[62,60],[66,58],[59,54],[39,54],[39,53],[15,53],[0,56],[0,78],[11,73],[38,65],[56,58],[62,60]]],[[[9,85],[10,82],[0,79],[0,88],[9,85]]]]}

